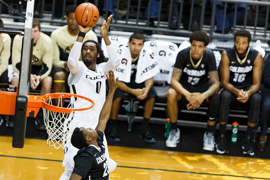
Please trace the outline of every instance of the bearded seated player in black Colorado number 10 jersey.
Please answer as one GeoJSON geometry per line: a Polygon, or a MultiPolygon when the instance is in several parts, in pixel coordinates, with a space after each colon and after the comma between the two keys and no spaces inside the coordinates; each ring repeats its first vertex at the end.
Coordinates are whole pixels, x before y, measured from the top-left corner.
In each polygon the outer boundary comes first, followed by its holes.
{"type": "Polygon", "coordinates": [[[262,55],[249,48],[251,34],[241,29],[234,35],[234,48],[221,54],[221,103],[219,110],[220,136],[217,152],[228,153],[225,142],[225,130],[229,117],[230,105],[234,100],[248,110],[248,127],[242,149],[247,155],[254,155],[251,135],[260,114],[261,95],[259,89],[262,76],[262,55]]]}

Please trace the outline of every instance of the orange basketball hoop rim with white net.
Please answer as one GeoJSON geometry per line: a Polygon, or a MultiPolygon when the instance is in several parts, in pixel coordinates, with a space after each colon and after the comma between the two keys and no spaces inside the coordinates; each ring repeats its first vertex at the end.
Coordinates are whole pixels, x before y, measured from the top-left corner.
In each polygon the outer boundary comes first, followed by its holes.
{"type": "Polygon", "coordinates": [[[56,149],[70,145],[73,130],[79,123],[79,121],[72,121],[74,115],[77,114],[75,119],[79,119],[86,110],[94,106],[94,102],[91,99],[77,94],[51,93],[43,96],[27,96],[27,112],[29,114],[35,111],[35,116],[38,113],[39,107],[42,107],[44,123],[48,133],[47,144],[56,149]],[[70,98],[70,103],[67,107],[63,107],[63,98],[70,98]],[[53,105],[53,99],[58,99],[58,105],[53,105]]]}

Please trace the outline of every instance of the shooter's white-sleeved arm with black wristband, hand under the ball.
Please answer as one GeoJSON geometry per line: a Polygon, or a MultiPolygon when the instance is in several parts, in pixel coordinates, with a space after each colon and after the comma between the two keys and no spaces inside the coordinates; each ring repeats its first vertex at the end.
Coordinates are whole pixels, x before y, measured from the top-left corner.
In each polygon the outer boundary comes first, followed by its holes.
{"type": "Polygon", "coordinates": [[[85,34],[87,32],[89,32],[93,27],[96,26],[96,25],[93,25],[93,26],[84,28],[81,25],[79,25],[78,23],[77,23],[77,25],[79,27],[80,32],[78,34],[78,37],[77,37],[73,47],[70,50],[70,53],[68,56],[68,62],[67,62],[67,66],[68,66],[71,74],[75,74],[81,68],[80,65],[78,64],[78,61],[79,61],[79,58],[81,55],[83,39],[85,37],[85,34]]]}

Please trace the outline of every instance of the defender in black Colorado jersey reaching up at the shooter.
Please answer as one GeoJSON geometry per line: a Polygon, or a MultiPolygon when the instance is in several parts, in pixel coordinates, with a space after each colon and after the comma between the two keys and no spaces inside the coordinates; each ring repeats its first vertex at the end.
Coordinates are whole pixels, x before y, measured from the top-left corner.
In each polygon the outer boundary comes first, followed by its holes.
{"type": "Polygon", "coordinates": [[[99,122],[96,129],[75,128],[71,136],[71,143],[80,149],[74,156],[75,166],[70,176],[70,180],[109,179],[108,163],[105,156],[105,146],[103,145],[103,135],[106,123],[110,116],[113,94],[118,87],[118,77],[114,79],[112,69],[106,74],[110,90],[106,101],[99,115],[99,122]]]}

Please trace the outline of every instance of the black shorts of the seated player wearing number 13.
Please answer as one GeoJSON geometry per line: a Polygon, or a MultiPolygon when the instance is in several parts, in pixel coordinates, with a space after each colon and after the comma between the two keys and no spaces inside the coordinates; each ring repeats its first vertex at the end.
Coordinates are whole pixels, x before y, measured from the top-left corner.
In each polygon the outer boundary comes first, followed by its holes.
{"type": "MultiPolygon", "coordinates": [[[[181,82],[180,82],[181,83],[181,82]]],[[[198,86],[190,86],[187,85],[185,83],[181,83],[181,85],[183,86],[183,88],[185,88],[187,91],[189,91],[190,93],[193,92],[200,92],[200,93],[204,93],[205,91],[207,91],[209,89],[209,87],[211,86],[210,82],[206,82],[203,84],[200,84],[198,86]]],[[[182,95],[182,98],[180,101],[178,101],[178,107],[179,110],[185,109],[187,107],[187,104],[189,102],[187,101],[187,99],[185,98],[184,95],[182,95]]],[[[202,104],[209,104],[206,99],[204,100],[204,102],[202,104]]]]}

